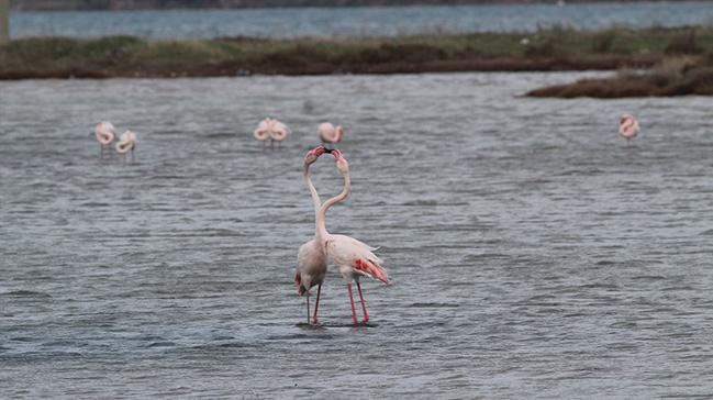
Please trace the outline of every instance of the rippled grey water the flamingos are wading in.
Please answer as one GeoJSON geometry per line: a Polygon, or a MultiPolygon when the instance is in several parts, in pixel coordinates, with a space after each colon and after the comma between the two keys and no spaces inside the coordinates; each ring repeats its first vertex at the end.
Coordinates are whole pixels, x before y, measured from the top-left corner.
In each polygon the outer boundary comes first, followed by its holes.
{"type": "Polygon", "coordinates": [[[580,76],[0,82],[0,393],[712,397],[711,100],[515,97],[580,76]],[[365,281],[369,326],[335,270],[305,325],[292,281],[323,120],[353,179],[327,226],[393,281],[365,281]]]}

